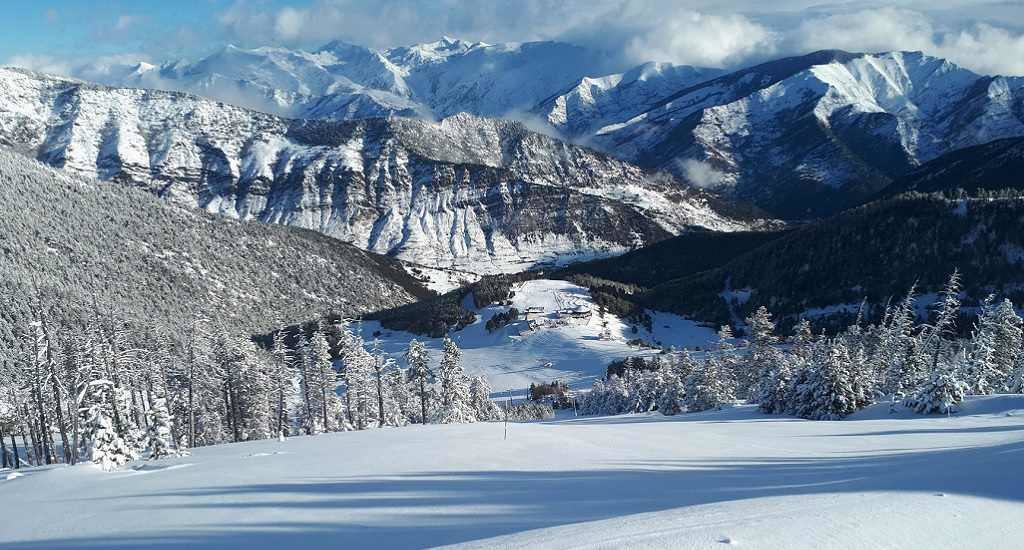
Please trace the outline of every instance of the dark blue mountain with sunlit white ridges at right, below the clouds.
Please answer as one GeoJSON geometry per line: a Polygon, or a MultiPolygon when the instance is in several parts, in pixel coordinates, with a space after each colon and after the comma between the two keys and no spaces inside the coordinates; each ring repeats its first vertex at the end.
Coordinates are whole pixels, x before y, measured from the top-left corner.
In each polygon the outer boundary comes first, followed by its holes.
{"type": "Polygon", "coordinates": [[[683,89],[592,143],[777,214],[822,214],[950,151],[1024,135],[1024,78],[819,51],[683,89]]]}

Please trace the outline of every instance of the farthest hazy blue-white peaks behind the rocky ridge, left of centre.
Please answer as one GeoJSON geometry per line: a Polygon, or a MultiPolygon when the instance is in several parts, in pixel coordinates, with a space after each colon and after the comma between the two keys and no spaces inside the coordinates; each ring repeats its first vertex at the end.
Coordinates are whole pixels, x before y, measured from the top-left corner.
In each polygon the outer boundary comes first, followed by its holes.
{"type": "Polygon", "coordinates": [[[297,118],[500,117],[525,114],[587,77],[607,74],[606,58],[560,42],[447,37],[386,50],[343,42],[314,51],[227,45],[198,61],[110,68],[98,80],[188,91],[297,118]]]}

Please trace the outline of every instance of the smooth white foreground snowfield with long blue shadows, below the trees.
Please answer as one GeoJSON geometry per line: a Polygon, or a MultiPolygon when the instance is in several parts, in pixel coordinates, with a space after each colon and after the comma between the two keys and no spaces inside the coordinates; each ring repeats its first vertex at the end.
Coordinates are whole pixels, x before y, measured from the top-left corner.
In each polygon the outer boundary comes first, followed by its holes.
{"type": "Polygon", "coordinates": [[[27,470],[0,546],[998,548],[1024,537],[1022,457],[1024,396],[415,426],[27,470]]]}

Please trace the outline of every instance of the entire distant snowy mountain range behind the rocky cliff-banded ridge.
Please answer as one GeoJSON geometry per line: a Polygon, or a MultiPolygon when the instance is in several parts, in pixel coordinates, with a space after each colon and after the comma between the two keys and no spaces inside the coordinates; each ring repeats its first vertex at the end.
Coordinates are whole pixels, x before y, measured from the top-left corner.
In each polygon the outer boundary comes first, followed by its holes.
{"type": "Polygon", "coordinates": [[[921,52],[823,50],[731,73],[618,70],[606,57],[449,38],[388,50],[227,46],[194,62],[117,68],[105,82],[299,118],[516,119],[784,218],[855,206],[940,155],[1024,133],[1024,78],[921,52]]]}

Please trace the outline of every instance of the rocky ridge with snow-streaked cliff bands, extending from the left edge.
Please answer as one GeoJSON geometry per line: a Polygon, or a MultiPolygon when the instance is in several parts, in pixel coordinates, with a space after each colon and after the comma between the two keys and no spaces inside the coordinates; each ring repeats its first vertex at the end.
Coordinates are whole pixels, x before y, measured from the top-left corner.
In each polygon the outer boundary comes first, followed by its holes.
{"type": "Polygon", "coordinates": [[[0,70],[0,143],[52,166],[428,266],[505,271],[757,223],[517,122],[295,121],[18,70],[0,70]]]}

